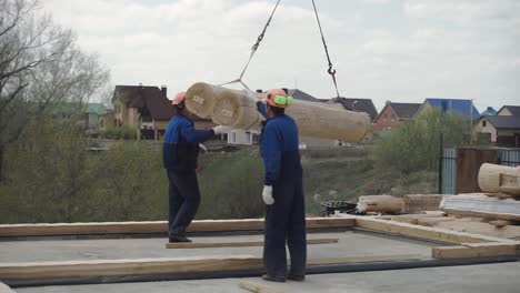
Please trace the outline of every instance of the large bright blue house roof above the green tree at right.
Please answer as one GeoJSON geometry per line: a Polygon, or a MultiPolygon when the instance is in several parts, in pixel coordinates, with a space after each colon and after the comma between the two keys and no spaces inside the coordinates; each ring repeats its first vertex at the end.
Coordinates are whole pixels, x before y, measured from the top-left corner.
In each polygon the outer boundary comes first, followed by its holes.
{"type": "Polygon", "coordinates": [[[480,118],[480,112],[474,107],[473,102],[468,99],[443,99],[443,98],[428,98],[422,103],[421,108],[416,113],[416,117],[421,115],[432,107],[440,109],[447,113],[459,113],[467,118],[477,120],[480,118]]]}

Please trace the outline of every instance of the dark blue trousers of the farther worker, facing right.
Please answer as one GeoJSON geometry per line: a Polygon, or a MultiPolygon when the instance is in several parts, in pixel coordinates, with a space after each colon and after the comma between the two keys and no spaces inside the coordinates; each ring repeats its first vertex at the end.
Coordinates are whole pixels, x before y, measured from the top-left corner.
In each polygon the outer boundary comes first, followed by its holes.
{"type": "Polygon", "coordinates": [[[200,205],[200,190],[197,172],[167,170],[169,186],[169,234],[183,235],[200,205]]]}

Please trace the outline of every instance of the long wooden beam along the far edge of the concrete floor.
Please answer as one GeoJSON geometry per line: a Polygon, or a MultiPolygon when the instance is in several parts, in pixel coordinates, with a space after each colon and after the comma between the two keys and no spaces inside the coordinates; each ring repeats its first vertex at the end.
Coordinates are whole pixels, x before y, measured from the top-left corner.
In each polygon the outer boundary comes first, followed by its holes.
{"type": "MultiPolygon", "coordinates": [[[[354,221],[341,218],[307,218],[308,229],[350,228],[354,221]]],[[[262,230],[263,219],[243,220],[199,220],[188,228],[189,232],[223,232],[262,230]]],[[[40,236],[40,235],[84,235],[84,234],[126,234],[126,233],[166,233],[166,221],[151,222],[99,222],[99,223],[38,223],[1,224],[0,236],[40,236]]]]}

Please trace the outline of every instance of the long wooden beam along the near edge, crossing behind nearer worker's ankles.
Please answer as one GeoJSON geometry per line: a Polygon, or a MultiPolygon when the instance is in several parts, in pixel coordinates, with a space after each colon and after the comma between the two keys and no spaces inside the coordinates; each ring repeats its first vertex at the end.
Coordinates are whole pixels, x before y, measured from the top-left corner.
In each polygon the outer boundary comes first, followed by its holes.
{"type": "MultiPolygon", "coordinates": [[[[418,259],[420,255],[370,255],[310,259],[309,265],[367,263],[418,259]]],[[[194,256],[174,259],[88,260],[61,262],[0,263],[0,280],[28,280],[74,276],[176,274],[214,271],[259,270],[262,257],[253,255],[194,256]]]]}

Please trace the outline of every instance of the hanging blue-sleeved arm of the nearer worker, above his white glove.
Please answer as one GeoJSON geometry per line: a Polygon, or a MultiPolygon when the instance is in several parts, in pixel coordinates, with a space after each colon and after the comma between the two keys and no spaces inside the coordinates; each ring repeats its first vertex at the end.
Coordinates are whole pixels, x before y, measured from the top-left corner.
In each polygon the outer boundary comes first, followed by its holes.
{"type": "Polygon", "coordinates": [[[266,165],[264,185],[273,185],[280,178],[282,145],[276,127],[267,124],[263,130],[263,162],[266,165]]]}

